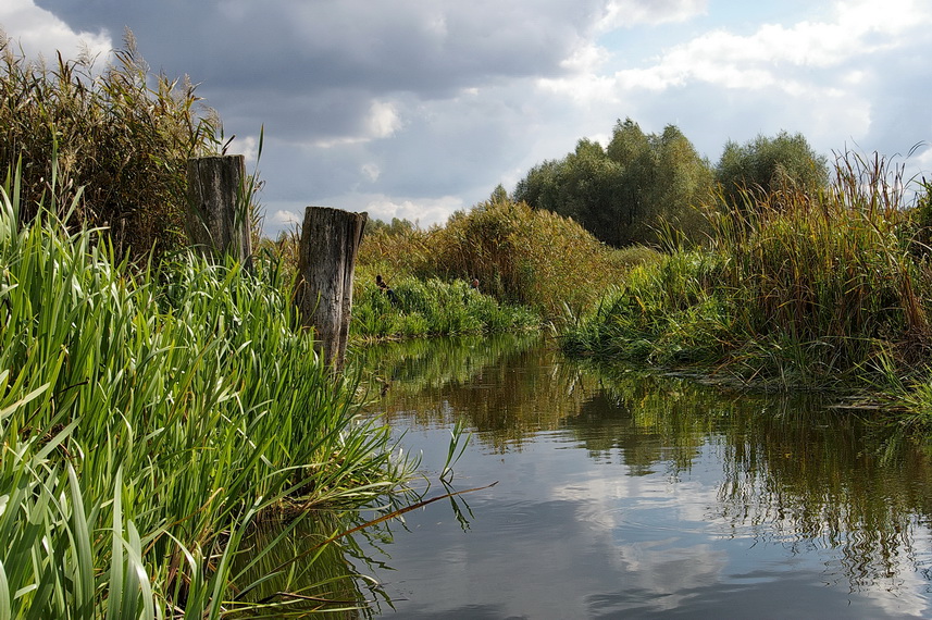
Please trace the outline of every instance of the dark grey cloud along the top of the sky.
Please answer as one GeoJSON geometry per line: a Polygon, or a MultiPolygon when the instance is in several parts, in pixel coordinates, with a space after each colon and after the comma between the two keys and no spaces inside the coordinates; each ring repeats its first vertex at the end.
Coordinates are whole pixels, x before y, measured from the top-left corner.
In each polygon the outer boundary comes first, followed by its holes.
{"type": "Polygon", "coordinates": [[[561,61],[593,27],[601,2],[38,4],[75,28],[105,27],[119,36],[128,26],[144,55],[219,87],[254,84],[279,92],[364,88],[444,96],[489,79],[562,73],[561,61]]]}

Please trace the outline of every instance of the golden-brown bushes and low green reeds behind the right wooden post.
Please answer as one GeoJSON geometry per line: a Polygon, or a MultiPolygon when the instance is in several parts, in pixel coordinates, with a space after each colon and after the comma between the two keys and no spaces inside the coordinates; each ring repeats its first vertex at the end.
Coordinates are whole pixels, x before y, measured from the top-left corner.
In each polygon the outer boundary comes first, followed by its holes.
{"type": "Polygon", "coordinates": [[[612,249],[499,187],[445,226],[373,224],[360,246],[351,333],[378,339],[540,330],[660,257],[646,247],[612,249]],[[395,302],[374,284],[382,274],[395,302]]]}

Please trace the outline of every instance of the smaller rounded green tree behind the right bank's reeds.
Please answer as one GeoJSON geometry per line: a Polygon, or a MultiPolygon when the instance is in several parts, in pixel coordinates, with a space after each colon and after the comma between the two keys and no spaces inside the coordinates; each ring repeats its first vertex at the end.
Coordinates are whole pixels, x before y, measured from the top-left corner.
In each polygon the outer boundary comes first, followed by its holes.
{"type": "Polygon", "coordinates": [[[716,166],[716,182],[732,208],[743,203],[748,189],[765,196],[783,188],[815,195],[828,185],[828,160],[801,134],[759,135],[744,145],[729,140],[716,166]]]}

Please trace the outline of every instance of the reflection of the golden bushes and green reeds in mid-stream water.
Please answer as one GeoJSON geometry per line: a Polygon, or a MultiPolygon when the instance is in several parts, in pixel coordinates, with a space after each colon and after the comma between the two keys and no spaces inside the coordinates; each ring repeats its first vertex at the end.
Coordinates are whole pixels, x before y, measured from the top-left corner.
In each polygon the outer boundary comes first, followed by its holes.
{"type": "Polygon", "coordinates": [[[595,375],[561,362],[533,335],[393,343],[368,347],[356,360],[382,386],[373,410],[426,426],[465,416],[496,451],[560,429],[597,387],[595,375]]]}

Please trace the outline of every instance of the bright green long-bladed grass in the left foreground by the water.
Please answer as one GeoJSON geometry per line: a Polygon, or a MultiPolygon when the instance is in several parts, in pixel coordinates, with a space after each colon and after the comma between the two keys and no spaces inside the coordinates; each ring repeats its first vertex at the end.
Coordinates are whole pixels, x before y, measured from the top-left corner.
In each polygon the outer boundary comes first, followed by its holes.
{"type": "Polygon", "coordinates": [[[21,226],[21,191],[0,193],[0,617],[243,611],[257,514],[410,474],[294,328],[274,265],[129,270],[42,209],[21,226]]]}

